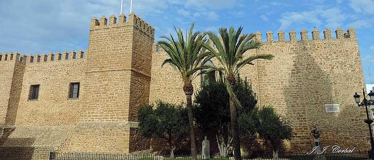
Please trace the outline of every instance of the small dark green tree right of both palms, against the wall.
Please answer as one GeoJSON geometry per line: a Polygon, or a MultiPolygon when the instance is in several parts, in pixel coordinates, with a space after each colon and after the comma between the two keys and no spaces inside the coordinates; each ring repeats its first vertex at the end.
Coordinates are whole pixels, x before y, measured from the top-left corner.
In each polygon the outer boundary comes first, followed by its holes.
{"type": "Polygon", "coordinates": [[[263,107],[258,111],[260,125],[257,128],[260,138],[273,147],[273,156],[278,158],[278,148],[283,139],[291,140],[292,127],[289,121],[278,114],[273,107],[263,107]]]}

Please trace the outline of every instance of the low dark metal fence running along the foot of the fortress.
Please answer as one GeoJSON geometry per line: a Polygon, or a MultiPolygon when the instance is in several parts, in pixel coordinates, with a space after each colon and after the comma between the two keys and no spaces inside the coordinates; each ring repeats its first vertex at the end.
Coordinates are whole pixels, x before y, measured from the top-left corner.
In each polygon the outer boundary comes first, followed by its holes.
{"type": "MultiPolygon", "coordinates": [[[[198,160],[204,160],[198,156],[198,160]]],[[[243,158],[243,160],[272,160],[271,156],[243,158]]],[[[134,155],[134,154],[105,154],[105,153],[59,153],[51,152],[49,160],[191,160],[189,156],[134,155]]],[[[231,158],[211,157],[209,160],[234,160],[231,158]]],[[[367,151],[354,153],[324,153],[322,155],[285,155],[280,154],[278,160],[369,160],[367,151]]]]}

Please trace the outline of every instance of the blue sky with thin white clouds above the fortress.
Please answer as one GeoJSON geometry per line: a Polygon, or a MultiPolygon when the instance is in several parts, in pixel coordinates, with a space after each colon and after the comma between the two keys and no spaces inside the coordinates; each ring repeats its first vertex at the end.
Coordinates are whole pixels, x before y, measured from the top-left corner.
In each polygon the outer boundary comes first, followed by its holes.
{"type": "MultiPolygon", "coordinates": [[[[124,13],[130,0],[124,0],[124,13]]],[[[90,19],[120,13],[121,0],[0,0],[0,53],[56,53],[86,50],[90,19]]],[[[244,27],[244,32],[313,27],[354,27],[366,83],[374,81],[374,0],[133,0],[133,11],[159,36],[173,25],[200,31],[244,27]],[[368,67],[372,76],[369,77],[368,67]]],[[[300,34],[297,34],[300,39],[300,34]]],[[[275,36],[277,37],[277,36],[275,36]]],[[[275,38],[277,39],[277,38],[275,38]]],[[[287,38],[286,38],[287,39],[287,38]]]]}

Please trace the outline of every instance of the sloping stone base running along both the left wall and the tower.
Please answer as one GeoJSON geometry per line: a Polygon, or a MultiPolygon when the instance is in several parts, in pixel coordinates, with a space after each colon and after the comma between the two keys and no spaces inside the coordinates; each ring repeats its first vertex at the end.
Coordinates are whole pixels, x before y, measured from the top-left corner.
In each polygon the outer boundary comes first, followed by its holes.
{"type": "Polygon", "coordinates": [[[150,149],[133,122],[71,126],[2,126],[0,160],[48,160],[51,151],[129,153],[150,149]]]}

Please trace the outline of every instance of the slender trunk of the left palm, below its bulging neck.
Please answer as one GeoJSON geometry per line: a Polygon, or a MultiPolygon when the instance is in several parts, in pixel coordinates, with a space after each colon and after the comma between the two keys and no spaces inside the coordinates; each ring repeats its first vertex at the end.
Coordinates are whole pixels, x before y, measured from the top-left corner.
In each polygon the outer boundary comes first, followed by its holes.
{"type": "Polygon", "coordinates": [[[191,159],[196,160],[196,144],[195,134],[193,129],[193,114],[192,114],[192,96],[187,95],[187,109],[188,109],[188,124],[189,124],[189,136],[191,138],[191,159]]]}

